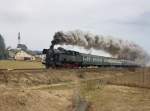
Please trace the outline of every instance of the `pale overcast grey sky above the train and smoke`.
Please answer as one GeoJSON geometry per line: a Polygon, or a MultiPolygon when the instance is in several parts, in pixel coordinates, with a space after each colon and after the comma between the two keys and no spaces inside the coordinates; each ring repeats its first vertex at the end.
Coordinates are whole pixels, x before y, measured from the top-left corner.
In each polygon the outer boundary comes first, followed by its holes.
{"type": "Polygon", "coordinates": [[[7,46],[42,50],[57,31],[80,29],[133,41],[150,53],[150,0],[0,0],[7,46]]]}

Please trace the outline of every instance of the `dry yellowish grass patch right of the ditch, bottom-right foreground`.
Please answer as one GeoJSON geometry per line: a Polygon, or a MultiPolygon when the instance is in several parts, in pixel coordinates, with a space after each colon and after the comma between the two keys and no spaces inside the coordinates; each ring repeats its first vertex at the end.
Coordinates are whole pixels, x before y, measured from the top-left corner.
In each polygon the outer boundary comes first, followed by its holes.
{"type": "Polygon", "coordinates": [[[150,111],[150,90],[106,85],[84,92],[89,111],[150,111]]]}

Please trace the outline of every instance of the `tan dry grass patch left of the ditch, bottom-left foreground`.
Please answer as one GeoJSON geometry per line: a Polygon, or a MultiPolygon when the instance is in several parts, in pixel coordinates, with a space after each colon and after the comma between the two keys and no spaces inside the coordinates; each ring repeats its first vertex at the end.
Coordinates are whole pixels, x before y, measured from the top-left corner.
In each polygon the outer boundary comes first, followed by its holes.
{"type": "Polygon", "coordinates": [[[29,90],[0,88],[0,111],[67,111],[71,90],[29,90]]]}

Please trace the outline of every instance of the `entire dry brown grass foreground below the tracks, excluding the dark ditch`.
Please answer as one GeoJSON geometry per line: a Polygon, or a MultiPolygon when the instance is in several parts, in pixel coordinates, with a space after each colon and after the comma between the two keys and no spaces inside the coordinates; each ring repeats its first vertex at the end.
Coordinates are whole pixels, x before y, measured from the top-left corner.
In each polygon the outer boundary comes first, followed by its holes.
{"type": "Polygon", "coordinates": [[[90,111],[150,110],[150,89],[138,88],[150,87],[150,69],[15,70],[0,72],[0,83],[0,111],[70,111],[76,83],[75,98],[91,103],[90,111]]]}

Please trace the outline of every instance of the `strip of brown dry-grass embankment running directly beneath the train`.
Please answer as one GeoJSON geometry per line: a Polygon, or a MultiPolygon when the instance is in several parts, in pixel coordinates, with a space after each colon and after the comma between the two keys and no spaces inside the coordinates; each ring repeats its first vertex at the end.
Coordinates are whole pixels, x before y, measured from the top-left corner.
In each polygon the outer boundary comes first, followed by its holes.
{"type": "Polygon", "coordinates": [[[99,83],[147,87],[150,88],[150,70],[137,69],[128,71],[106,69],[49,69],[39,71],[12,70],[0,72],[0,83],[15,86],[32,86],[39,84],[54,84],[60,82],[75,82],[91,80],[99,83]]]}

